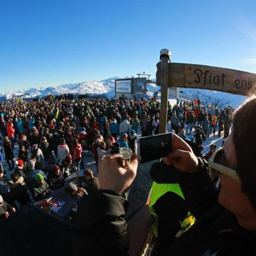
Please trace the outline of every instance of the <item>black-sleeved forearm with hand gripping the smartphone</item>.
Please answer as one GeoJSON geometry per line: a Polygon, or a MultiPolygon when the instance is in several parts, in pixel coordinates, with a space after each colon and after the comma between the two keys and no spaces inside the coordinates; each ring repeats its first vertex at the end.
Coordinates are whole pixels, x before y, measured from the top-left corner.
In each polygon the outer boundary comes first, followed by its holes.
{"type": "Polygon", "coordinates": [[[177,182],[195,218],[200,217],[217,202],[218,194],[204,162],[195,157],[190,146],[176,134],[173,136],[173,151],[163,161],[180,170],[177,182]]]}

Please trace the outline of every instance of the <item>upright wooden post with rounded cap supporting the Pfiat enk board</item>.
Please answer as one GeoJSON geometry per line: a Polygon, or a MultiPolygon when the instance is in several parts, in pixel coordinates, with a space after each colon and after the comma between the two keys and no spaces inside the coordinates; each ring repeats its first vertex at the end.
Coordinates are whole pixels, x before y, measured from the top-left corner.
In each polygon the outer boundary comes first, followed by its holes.
{"type": "Polygon", "coordinates": [[[161,49],[161,110],[159,134],[166,133],[167,112],[168,112],[168,78],[169,78],[169,59],[170,51],[168,49],[161,49]]]}

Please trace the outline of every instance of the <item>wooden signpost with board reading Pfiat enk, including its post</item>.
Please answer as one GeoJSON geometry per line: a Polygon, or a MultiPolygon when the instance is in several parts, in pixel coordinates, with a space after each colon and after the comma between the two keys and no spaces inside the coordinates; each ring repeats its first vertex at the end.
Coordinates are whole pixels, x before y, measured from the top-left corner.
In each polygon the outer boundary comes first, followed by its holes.
{"type": "MultiPolygon", "coordinates": [[[[163,50],[168,51],[168,49],[162,49],[161,52],[163,50]]],[[[186,63],[168,62],[166,64],[166,55],[160,54],[160,58],[161,62],[157,63],[157,85],[162,87],[159,133],[166,132],[166,102],[168,101],[166,87],[198,88],[240,95],[256,92],[256,74],[254,73],[186,63]]]]}

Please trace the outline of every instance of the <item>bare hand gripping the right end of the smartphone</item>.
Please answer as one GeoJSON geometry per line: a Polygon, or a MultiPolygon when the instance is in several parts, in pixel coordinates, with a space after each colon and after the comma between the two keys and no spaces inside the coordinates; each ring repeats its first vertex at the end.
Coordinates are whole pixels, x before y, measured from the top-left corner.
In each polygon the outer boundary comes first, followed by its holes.
{"type": "Polygon", "coordinates": [[[163,158],[163,162],[174,165],[182,172],[195,172],[198,168],[198,159],[191,147],[176,134],[173,134],[172,152],[163,158]]]}

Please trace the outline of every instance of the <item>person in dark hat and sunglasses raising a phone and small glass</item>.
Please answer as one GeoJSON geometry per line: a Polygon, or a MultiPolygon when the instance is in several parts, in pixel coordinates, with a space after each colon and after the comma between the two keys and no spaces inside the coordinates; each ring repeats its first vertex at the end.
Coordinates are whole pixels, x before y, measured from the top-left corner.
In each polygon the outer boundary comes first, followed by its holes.
{"type": "MultiPolygon", "coordinates": [[[[179,170],[177,182],[196,221],[179,238],[166,232],[169,242],[161,256],[256,255],[256,136],[251,136],[256,134],[255,115],[256,95],[237,109],[223,149],[209,160],[210,170],[189,144],[173,135],[173,150],[161,165],[167,171],[168,166],[179,170]],[[209,174],[219,176],[219,190],[209,174]]],[[[83,255],[85,248],[88,255],[129,255],[122,194],[131,186],[137,166],[134,156],[127,169],[119,165],[118,155],[99,163],[101,190],[81,200],[74,220],[74,255],[83,255]]]]}

